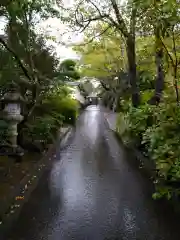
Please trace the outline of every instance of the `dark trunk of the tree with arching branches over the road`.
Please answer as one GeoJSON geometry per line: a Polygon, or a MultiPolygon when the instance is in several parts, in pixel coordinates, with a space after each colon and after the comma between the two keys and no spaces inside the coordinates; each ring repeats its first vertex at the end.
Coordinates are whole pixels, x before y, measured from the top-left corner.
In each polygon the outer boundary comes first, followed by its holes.
{"type": "Polygon", "coordinates": [[[135,53],[135,39],[129,36],[127,41],[127,55],[129,66],[129,80],[131,84],[132,104],[138,107],[140,104],[140,93],[137,86],[137,73],[136,73],[136,53],[135,53]]]}

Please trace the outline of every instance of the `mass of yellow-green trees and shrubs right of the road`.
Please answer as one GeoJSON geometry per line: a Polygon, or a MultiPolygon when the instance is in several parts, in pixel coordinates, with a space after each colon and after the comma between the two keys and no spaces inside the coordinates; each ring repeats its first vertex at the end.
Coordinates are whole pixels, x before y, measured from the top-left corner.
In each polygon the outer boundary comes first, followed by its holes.
{"type": "Polygon", "coordinates": [[[154,198],[179,195],[179,2],[75,2],[73,27],[85,35],[74,46],[82,75],[100,81],[124,143],[156,166],[154,198]]]}

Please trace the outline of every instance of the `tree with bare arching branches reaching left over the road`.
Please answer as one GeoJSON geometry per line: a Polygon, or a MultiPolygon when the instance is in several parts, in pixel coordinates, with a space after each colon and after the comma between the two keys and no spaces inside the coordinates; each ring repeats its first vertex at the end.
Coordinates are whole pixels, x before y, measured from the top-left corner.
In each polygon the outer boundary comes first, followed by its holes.
{"type": "MultiPolygon", "coordinates": [[[[127,51],[129,79],[132,92],[132,103],[138,106],[140,103],[139,89],[137,86],[136,74],[136,54],[135,54],[135,26],[136,13],[138,5],[136,1],[128,1],[128,7],[120,6],[115,0],[109,1],[76,1],[75,11],[75,25],[78,25],[82,31],[88,29],[91,36],[99,37],[109,29],[116,31],[123,36],[125,41],[125,48],[127,51]],[[126,7],[126,8],[125,8],[126,7]],[[123,9],[124,11],[121,11],[123,9]],[[127,9],[129,14],[127,15],[127,9]],[[126,20],[128,18],[128,20],[126,20]],[[92,27],[93,22],[106,24],[101,30],[98,25],[97,29],[92,27]],[[129,22],[129,24],[127,24],[129,22]],[[92,27],[92,28],[91,28],[92,27]],[[100,31],[99,31],[100,30],[100,31]]],[[[119,50],[120,51],[120,50],[119,50]]]]}

